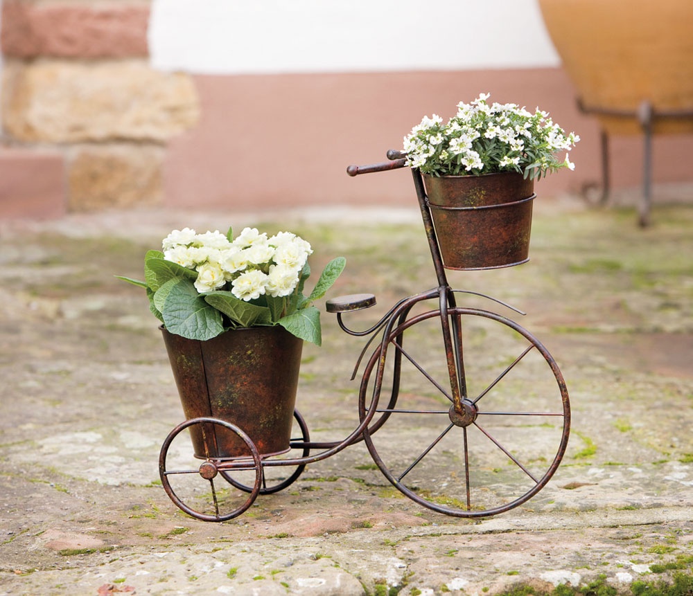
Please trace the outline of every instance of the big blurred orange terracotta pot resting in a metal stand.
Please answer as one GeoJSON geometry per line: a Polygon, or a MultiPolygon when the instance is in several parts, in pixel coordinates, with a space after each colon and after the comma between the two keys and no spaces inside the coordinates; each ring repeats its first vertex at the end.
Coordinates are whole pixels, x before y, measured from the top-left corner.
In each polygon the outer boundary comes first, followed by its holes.
{"type": "Polygon", "coordinates": [[[563,68],[608,134],[639,134],[649,102],[654,134],[693,132],[693,2],[539,0],[563,68]],[[599,114],[617,110],[620,117],[599,114]],[[672,112],[683,118],[656,118],[672,112]]]}

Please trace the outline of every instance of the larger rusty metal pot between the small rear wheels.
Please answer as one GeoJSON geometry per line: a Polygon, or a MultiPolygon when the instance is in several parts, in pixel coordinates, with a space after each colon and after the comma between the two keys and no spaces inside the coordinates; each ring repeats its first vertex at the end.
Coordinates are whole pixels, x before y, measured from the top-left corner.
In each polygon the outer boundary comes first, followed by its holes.
{"type": "MultiPolygon", "coordinates": [[[[231,329],[207,341],[186,339],[163,326],[161,332],[186,419],[213,417],[235,424],[261,455],[289,450],[301,339],[279,325],[231,329]]],[[[204,424],[190,431],[195,457],[249,455],[245,442],[231,431],[204,424]]]]}

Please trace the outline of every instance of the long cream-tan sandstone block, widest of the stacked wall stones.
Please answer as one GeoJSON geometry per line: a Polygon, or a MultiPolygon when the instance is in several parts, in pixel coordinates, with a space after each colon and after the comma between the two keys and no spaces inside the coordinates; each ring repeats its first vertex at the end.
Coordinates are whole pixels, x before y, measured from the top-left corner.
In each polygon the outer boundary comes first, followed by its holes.
{"type": "Polygon", "coordinates": [[[163,143],[200,116],[191,77],[144,60],[11,61],[3,75],[3,127],[20,141],[163,143]]]}

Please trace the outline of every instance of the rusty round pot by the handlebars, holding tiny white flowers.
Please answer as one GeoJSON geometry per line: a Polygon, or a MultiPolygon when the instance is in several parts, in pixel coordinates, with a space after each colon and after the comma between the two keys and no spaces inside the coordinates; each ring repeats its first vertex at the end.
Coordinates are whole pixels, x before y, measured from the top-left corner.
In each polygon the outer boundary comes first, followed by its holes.
{"type": "Polygon", "coordinates": [[[529,260],[534,181],[516,172],[423,174],[446,269],[495,269],[529,260]]]}

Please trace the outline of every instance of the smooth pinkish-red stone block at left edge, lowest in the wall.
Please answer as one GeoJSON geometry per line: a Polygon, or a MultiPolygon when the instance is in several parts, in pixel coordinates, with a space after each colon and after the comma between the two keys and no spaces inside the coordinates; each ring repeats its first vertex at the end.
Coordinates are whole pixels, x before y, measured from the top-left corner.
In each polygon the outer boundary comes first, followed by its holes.
{"type": "Polygon", "coordinates": [[[0,219],[64,215],[62,154],[0,148],[0,219]]]}

